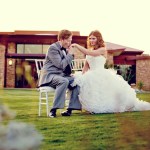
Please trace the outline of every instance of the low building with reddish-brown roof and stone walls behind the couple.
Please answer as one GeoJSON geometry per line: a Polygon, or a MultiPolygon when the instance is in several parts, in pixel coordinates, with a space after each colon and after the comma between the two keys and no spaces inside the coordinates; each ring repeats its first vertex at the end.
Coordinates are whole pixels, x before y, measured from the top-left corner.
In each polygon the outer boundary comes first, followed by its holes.
{"type": "MultiPolygon", "coordinates": [[[[50,44],[57,41],[58,31],[0,32],[0,88],[35,88],[37,73],[34,59],[43,59],[50,44]]],[[[86,36],[73,31],[73,43],[86,47],[86,36]]],[[[133,75],[130,83],[144,83],[150,90],[150,56],[143,51],[106,42],[108,64],[127,66],[133,75]]],[[[77,52],[76,58],[84,58],[77,52]]],[[[118,69],[119,70],[119,69],[118,69]]]]}

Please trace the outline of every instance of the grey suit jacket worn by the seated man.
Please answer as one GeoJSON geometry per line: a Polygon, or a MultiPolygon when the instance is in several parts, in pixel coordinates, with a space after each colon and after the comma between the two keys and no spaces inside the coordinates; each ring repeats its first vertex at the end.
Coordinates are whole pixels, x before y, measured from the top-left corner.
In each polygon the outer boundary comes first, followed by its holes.
{"type": "Polygon", "coordinates": [[[71,66],[73,58],[73,55],[63,53],[59,42],[53,43],[47,51],[38,86],[50,83],[55,75],[63,76],[66,66],[71,66]]]}

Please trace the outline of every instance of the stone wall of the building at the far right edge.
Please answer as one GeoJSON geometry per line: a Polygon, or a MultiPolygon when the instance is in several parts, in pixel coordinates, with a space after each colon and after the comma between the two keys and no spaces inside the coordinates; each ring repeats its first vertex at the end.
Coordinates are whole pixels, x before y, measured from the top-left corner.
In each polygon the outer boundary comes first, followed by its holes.
{"type": "Polygon", "coordinates": [[[150,91],[150,56],[148,55],[146,57],[143,57],[143,55],[141,55],[138,57],[138,60],[136,61],[137,87],[139,82],[142,82],[144,84],[143,90],[150,91]]]}

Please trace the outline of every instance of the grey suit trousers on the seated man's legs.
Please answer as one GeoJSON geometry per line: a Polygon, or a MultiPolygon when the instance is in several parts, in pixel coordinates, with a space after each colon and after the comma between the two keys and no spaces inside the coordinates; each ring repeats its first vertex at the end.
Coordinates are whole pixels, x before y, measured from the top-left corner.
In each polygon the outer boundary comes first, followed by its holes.
{"type": "Polygon", "coordinates": [[[50,82],[49,86],[55,88],[55,96],[53,100],[52,109],[61,109],[65,106],[66,91],[69,89],[71,91],[70,102],[68,108],[74,110],[81,110],[81,103],[79,101],[79,86],[71,87],[70,84],[73,83],[74,77],[72,76],[59,76],[55,75],[50,82]]]}

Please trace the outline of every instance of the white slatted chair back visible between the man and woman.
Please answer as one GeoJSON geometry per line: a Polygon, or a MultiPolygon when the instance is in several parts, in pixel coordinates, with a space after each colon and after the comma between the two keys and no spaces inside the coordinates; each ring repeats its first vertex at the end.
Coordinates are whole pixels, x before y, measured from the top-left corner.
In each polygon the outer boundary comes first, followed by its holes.
{"type": "Polygon", "coordinates": [[[84,65],[85,65],[85,59],[72,60],[72,70],[73,71],[82,71],[84,65]]]}

